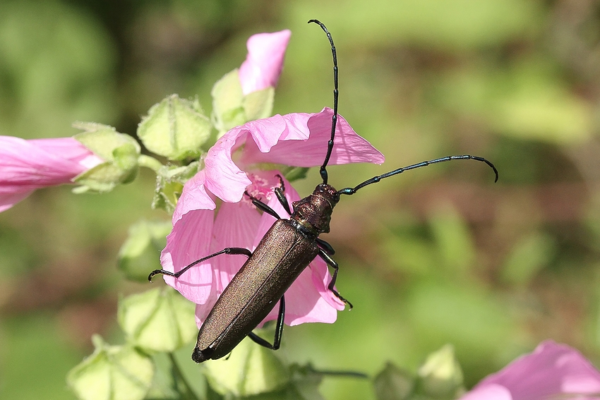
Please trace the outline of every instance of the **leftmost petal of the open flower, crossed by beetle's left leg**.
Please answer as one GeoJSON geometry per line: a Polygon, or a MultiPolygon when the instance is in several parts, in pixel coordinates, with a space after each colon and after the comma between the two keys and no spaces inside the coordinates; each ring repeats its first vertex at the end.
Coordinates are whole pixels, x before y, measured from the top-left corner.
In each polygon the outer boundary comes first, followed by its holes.
{"type": "MultiPolygon", "coordinates": [[[[169,272],[178,272],[186,265],[210,254],[212,210],[193,210],[178,219],[167,236],[167,246],[160,255],[160,264],[169,272]]],[[[212,286],[212,260],[188,269],[179,278],[163,275],[164,281],[189,301],[206,303],[212,286]]]]}

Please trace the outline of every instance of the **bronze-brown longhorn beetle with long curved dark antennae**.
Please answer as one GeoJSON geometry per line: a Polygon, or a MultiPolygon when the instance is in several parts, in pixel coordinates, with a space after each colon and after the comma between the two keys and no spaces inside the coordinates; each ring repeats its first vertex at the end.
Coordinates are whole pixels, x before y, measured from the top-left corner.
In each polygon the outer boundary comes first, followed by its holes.
{"type": "Polygon", "coordinates": [[[196,348],[192,353],[192,359],[196,363],[202,363],[209,359],[216,360],[217,358],[226,356],[246,336],[261,346],[273,350],[279,349],[285,315],[284,293],[304,268],[317,256],[323,258],[333,268],[333,276],[328,289],[340,301],[343,301],[344,304],[349,305],[349,308],[352,309],[352,304],[335,291],[334,286],[337,279],[338,266],[337,262],[331,257],[335,252],[329,243],[318,238],[320,234],[329,232],[331,213],[333,207],[340,201],[340,195],[353,195],[356,193],[356,190],[371,185],[371,183],[377,183],[383,178],[402,174],[404,171],[420,168],[421,166],[447,162],[454,159],[474,159],[485,162],[488,166],[491,166],[496,174],[496,181],[498,181],[498,171],[491,162],[482,157],[459,155],[404,166],[387,174],[374,176],[363,183],[359,183],[354,188],[335,190],[335,188],[328,185],[327,164],[333,150],[335,126],[337,123],[337,54],[331,34],[325,25],[318,20],[309,20],[308,23],[320,25],[331,44],[333,56],[334,90],[331,137],[328,141],[327,155],[319,170],[323,182],[315,188],[311,195],[293,202],[292,207],[290,207],[284,196],[283,179],[279,176],[280,187],[275,188],[274,192],[284,210],[290,214],[289,219],[282,219],[275,210],[272,210],[264,202],[253,198],[246,192],[245,194],[252,200],[253,205],[277,219],[253,252],[246,248],[224,248],[217,253],[207,255],[200,258],[200,260],[192,262],[179,272],[173,273],[164,269],[156,269],[148,277],[148,280],[151,280],[156,274],[180,277],[181,274],[194,265],[217,255],[239,254],[248,257],[248,260],[242,265],[239,272],[235,274],[232,281],[229,282],[229,285],[227,285],[221,296],[217,299],[215,306],[206,317],[202,327],[200,327],[196,348]],[[254,334],[252,329],[256,328],[265,319],[277,302],[279,302],[279,315],[275,328],[275,338],[273,339],[273,344],[270,344],[265,339],[254,334]]]}

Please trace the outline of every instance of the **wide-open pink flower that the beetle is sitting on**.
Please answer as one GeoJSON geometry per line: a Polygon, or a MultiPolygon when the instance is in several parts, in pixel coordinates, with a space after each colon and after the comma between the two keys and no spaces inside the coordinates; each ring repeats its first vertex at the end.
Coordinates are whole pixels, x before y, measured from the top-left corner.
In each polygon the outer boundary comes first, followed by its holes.
{"type": "MultiPolygon", "coordinates": [[[[204,169],[184,186],[173,214],[173,230],[162,251],[162,267],[176,272],[225,247],[256,248],[275,219],[266,213],[261,215],[244,196],[244,190],[266,202],[281,217],[288,214],[273,194],[273,188],[280,185],[276,177],[280,172],[258,171],[253,165],[320,165],[330,137],[331,118],[332,110],[328,108],[318,114],[276,115],[233,128],[220,138],[208,151],[204,169]],[[215,198],[223,200],[216,217],[215,198]]],[[[341,116],[336,132],[331,165],[383,162],[383,155],[341,116]]],[[[284,180],[284,185],[290,205],[300,199],[288,181],[284,180]]],[[[164,276],[164,280],[197,304],[200,326],[245,260],[243,255],[219,255],[192,267],[178,279],[164,276]]],[[[330,280],[325,262],[317,257],[286,293],[285,323],[334,322],[344,304],[327,289],[330,280]]],[[[273,310],[265,321],[276,317],[277,310],[273,310]]]]}

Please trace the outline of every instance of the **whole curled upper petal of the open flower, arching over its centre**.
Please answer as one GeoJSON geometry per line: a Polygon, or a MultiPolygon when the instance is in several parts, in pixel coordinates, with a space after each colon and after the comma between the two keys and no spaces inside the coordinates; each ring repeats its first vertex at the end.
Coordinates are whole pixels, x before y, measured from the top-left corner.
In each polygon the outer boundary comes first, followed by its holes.
{"type": "MultiPolygon", "coordinates": [[[[238,202],[250,184],[248,176],[232,159],[232,152],[245,141],[241,164],[275,163],[319,166],[327,152],[333,111],[318,114],[275,115],[237,126],[208,150],[205,158],[206,187],[226,202],[238,202]],[[248,140],[248,138],[253,140],[248,140]]],[[[330,164],[383,163],[383,154],[356,134],[340,116],[330,164]]]]}

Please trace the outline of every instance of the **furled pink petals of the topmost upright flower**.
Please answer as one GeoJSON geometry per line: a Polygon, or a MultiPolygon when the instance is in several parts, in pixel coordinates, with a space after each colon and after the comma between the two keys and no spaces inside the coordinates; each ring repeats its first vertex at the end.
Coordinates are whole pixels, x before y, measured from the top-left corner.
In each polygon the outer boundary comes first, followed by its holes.
{"type": "Polygon", "coordinates": [[[277,85],[291,35],[289,30],[282,30],[258,33],[248,38],[248,55],[239,67],[239,81],[244,95],[277,85]]]}

